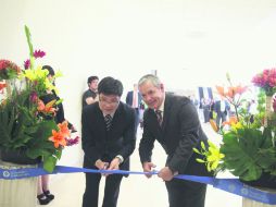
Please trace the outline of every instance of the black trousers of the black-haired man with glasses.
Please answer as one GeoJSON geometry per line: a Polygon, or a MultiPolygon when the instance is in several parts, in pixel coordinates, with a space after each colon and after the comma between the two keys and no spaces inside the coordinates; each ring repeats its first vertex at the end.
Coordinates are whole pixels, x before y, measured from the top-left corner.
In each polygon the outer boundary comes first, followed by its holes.
{"type": "MultiPolygon", "coordinates": [[[[86,190],[83,196],[83,207],[98,207],[99,185],[102,176],[99,173],[86,173],[86,190]]],[[[116,207],[122,174],[110,174],[105,178],[102,207],[116,207]]]]}

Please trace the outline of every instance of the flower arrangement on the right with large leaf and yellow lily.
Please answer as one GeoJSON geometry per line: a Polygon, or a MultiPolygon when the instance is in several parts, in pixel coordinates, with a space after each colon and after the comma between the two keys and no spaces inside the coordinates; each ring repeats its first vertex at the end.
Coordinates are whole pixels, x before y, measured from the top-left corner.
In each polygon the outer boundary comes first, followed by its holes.
{"type": "MultiPolygon", "coordinates": [[[[267,74],[267,71],[263,72],[267,74]]],[[[274,74],[275,70],[269,71],[274,74]]],[[[276,127],[275,112],[269,117],[267,125],[265,125],[265,96],[268,92],[271,95],[275,89],[274,78],[269,80],[269,87],[262,82],[262,88],[258,97],[258,113],[252,115],[247,109],[246,99],[242,94],[248,87],[233,86],[229,76],[227,80],[230,84],[228,90],[217,86],[217,92],[225,97],[230,105],[234,106],[235,115],[229,121],[223,123],[222,129],[217,129],[215,122],[212,126],[222,135],[222,144],[219,146],[209,142],[209,147],[203,146],[202,151],[195,149],[196,153],[204,155],[204,159],[199,162],[206,165],[209,171],[218,173],[228,170],[242,181],[258,181],[263,174],[268,175],[271,184],[267,187],[276,187],[276,127]],[[264,86],[264,87],[263,87],[264,86]],[[253,118],[253,119],[252,119],[253,118]],[[225,127],[228,125],[228,127],[225,127]]],[[[256,78],[253,78],[253,83],[256,78]]],[[[261,86],[261,85],[258,85],[261,86]]],[[[271,109],[269,109],[271,110],[271,109]]],[[[272,112],[273,113],[273,112],[272,112]]],[[[204,145],[202,143],[202,145],[204,145]]]]}

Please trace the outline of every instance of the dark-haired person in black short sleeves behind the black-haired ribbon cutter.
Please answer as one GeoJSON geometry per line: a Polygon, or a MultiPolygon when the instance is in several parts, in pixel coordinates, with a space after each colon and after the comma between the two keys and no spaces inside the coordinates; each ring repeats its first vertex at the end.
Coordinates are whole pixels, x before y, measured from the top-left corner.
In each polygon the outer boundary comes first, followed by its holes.
{"type": "Polygon", "coordinates": [[[90,76],[87,80],[88,89],[83,94],[83,108],[98,100],[98,76],[90,76]]]}

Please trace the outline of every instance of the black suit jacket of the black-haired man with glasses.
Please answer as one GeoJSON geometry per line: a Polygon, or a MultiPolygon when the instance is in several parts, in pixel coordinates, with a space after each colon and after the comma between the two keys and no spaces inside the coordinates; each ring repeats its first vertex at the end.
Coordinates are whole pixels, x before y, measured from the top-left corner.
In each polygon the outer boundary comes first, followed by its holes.
{"type": "Polygon", "coordinates": [[[124,162],[120,165],[120,169],[129,170],[129,156],[136,144],[134,109],[120,102],[111,129],[106,131],[99,102],[85,107],[81,114],[81,138],[85,168],[95,168],[98,159],[110,162],[121,155],[124,162]]]}

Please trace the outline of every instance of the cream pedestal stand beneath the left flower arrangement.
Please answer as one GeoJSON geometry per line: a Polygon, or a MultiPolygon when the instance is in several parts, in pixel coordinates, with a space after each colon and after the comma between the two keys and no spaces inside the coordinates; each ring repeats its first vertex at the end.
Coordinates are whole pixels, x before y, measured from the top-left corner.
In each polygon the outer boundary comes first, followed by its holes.
{"type": "MultiPolygon", "coordinates": [[[[0,160],[1,169],[34,168],[36,165],[16,165],[0,160]]],[[[37,176],[18,180],[0,179],[0,206],[2,207],[36,207],[37,176]]]]}

